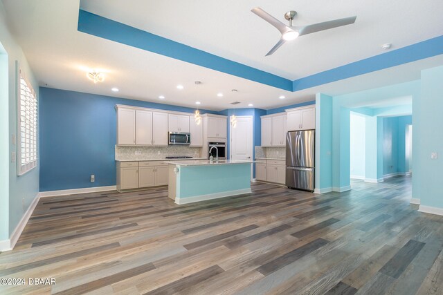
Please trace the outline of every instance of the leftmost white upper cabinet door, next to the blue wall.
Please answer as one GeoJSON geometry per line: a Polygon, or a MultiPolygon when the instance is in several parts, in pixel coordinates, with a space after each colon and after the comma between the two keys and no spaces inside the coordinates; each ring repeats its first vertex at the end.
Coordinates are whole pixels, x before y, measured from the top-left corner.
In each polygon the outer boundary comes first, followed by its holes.
{"type": "Polygon", "coordinates": [[[131,108],[117,110],[117,144],[136,144],[136,111],[131,108]]]}

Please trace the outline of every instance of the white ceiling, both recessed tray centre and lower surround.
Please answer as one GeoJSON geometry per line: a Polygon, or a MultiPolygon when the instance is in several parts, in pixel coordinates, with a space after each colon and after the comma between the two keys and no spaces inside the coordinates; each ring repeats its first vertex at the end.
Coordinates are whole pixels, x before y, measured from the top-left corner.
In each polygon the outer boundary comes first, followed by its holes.
{"type": "MultiPolygon", "coordinates": [[[[419,79],[419,70],[443,64],[441,57],[290,93],[215,70],[188,64],[114,41],[78,32],[75,0],[3,0],[12,33],[41,86],[180,106],[221,110],[253,103],[273,108],[314,99],[318,91],[340,95],[419,79]],[[87,68],[101,68],[105,82],[91,83],[87,68]],[[370,78],[370,79],[368,79],[370,78]],[[201,85],[194,82],[199,80],[201,85]],[[182,91],[175,88],[183,84],[182,91]],[[110,88],[120,88],[112,93],[110,88]],[[238,93],[231,93],[231,89],[238,93]],[[224,97],[217,97],[217,93],[224,97]],[[159,95],[165,95],[163,101],[159,95]],[[278,99],[285,95],[286,99],[278,99]]],[[[82,8],[156,35],[205,50],[287,79],[379,55],[381,44],[401,48],[442,34],[443,1],[143,1],[82,0],[82,8]],[[354,25],[302,36],[264,57],[279,32],[250,10],[260,6],[285,21],[297,10],[300,26],[357,15],[354,25]]]]}

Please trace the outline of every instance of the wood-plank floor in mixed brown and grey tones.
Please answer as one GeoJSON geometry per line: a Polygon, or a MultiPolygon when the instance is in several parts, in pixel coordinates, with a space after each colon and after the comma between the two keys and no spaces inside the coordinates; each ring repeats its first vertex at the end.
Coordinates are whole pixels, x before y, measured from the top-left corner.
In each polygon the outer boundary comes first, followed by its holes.
{"type": "Polygon", "coordinates": [[[443,294],[443,217],[410,178],[177,205],[165,188],[42,198],[0,294],[443,294]],[[55,285],[28,285],[55,278],[55,285]]]}

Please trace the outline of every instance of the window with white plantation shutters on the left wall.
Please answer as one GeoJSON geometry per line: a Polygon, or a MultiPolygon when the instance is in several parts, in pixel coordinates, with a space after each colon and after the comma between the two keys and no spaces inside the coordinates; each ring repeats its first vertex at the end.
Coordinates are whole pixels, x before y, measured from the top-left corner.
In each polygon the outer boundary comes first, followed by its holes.
{"type": "Polygon", "coordinates": [[[18,85],[19,154],[18,174],[37,166],[37,97],[32,86],[19,70],[18,85]]]}

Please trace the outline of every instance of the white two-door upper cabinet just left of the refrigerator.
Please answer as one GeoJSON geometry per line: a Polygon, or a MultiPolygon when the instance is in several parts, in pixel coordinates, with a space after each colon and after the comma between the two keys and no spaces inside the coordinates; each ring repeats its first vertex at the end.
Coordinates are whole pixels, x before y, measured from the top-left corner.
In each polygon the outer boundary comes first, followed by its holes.
{"type": "Polygon", "coordinates": [[[286,113],[262,117],[262,146],[285,146],[286,133],[286,113]]]}

